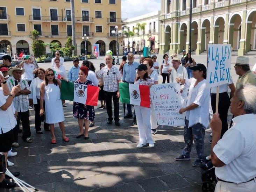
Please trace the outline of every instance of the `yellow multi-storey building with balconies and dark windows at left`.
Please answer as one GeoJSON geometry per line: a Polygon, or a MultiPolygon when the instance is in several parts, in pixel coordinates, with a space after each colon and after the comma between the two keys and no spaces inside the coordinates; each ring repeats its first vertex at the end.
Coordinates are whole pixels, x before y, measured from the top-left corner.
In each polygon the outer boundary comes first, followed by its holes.
{"type": "MultiPolygon", "coordinates": [[[[30,32],[40,32],[45,43],[59,42],[65,47],[67,37],[72,36],[70,0],[1,0],[0,1],[0,52],[12,48],[12,56],[23,50],[31,54],[30,32]]],[[[82,37],[88,36],[87,53],[92,45],[100,45],[100,55],[107,50],[116,54],[116,37],[111,33],[122,28],[121,0],[75,0],[77,54],[85,53],[82,37]]],[[[122,37],[118,37],[122,54],[122,37]]],[[[46,47],[49,53],[49,47],[46,47]]]]}

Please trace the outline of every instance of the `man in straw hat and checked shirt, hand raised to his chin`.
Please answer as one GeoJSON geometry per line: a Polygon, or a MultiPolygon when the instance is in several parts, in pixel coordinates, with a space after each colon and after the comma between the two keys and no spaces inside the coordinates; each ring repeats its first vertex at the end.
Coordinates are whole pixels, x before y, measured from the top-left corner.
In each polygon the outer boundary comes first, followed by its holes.
{"type": "Polygon", "coordinates": [[[20,85],[20,92],[17,93],[14,97],[13,104],[15,107],[16,112],[18,112],[17,117],[17,125],[13,129],[14,131],[14,143],[13,147],[19,147],[18,141],[18,133],[19,133],[19,127],[20,127],[20,120],[22,121],[22,140],[28,143],[32,142],[32,139],[30,138],[31,132],[30,132],[30,123],[29,123],[29,101],[28,101],[28,95],[31,93],[30,87],[28,85],[28,82],[26,80],[23,80],[21,78],[21,75],[25,72],[24,69],[21,69],[19,65],[16,65],[15,67],[10,67],[8,74],[10,76],[8,80],[8,87],[11,91],[12,88],[15,86],[15,80],[18,80],[20,85]]]}

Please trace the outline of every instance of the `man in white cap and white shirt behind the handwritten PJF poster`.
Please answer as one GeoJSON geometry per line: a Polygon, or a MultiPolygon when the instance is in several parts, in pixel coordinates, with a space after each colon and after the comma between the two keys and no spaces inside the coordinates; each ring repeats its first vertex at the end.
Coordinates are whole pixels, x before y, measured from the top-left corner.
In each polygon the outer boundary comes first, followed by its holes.
{"type": "MultiPolygon", "coordinates": [[[[172,58],[172,65],[173,65],[173,70],[170,74],[170,83],[175,83],[177,78],[181,78],[181,79],[189,78],[187,75],[186,68],[180,65],[180,61],[178,57],[172,58]]],[[[182,84],[180,84],[180,93],[181,93],[180,98],[181,98],[182,108],[185,108],[187,103],[187,88],[182,84]]]]}

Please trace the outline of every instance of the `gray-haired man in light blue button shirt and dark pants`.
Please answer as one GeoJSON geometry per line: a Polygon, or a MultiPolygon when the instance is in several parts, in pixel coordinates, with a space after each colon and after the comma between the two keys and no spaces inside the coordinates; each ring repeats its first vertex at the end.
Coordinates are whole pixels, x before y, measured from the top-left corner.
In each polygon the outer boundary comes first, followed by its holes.
{"type": "MultiPolygon", "coordinates": [[[[128,63],[126,63],[123,66],[123,77],[122,81],[126,83],[132,83],[134,84],[135,78],[136,78],[136,70],[137,67],[140,65],[139,63],[134,61],[134,55],[133,53],[128,53],[127,55],[128,63]]],[[[133,114],[131,112],[131,105],[127,104],[127,115],[125,115],[123,118],[132,118],[133,114]]],[[[134,119],[136,121],[136,116],[134,113],[134,119]]]]}

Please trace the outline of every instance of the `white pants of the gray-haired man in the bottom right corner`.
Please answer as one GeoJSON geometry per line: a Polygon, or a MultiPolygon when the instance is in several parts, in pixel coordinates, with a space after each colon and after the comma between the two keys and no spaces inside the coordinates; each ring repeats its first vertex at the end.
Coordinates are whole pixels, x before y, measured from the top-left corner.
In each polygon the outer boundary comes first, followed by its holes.
{"type": "Polygon", "coordinates": [[[252,180],[247,183],[227,183],[218,181],[215,187],[215,192],[255,192],[256,182],[252,180]]]}

